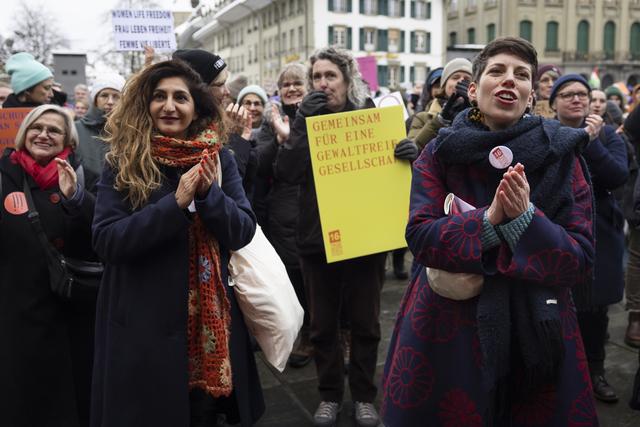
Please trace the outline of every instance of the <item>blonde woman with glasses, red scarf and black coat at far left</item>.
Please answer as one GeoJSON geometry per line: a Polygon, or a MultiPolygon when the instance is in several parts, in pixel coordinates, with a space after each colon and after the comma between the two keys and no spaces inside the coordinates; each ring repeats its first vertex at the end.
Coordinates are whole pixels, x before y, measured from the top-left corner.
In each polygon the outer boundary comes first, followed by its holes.
{"type": "MultiPolygon", "coordinates": [[[[49,241],[87,258],[94,199],[74,167],[78,136],[56,105],[32,110],[0,159],[0,425],[88,426],[92,315],[59,299],[28,220],[26,184],[49,241]]],[[[89,310],[92,311],[92,310],[89,310]]]]}

